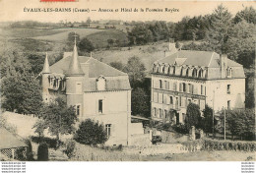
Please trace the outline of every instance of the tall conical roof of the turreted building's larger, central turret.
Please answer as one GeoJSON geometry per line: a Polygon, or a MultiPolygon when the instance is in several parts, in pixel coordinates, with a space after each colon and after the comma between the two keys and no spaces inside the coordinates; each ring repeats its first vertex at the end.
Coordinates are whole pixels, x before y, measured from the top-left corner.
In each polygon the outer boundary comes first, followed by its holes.
{"type": "Polygon", "coordinates": [[[84,72],[81,69],[80,63],[78,61],[78,49],[77,49],[77,45],[76,45],[76,39],[75,39],[75,45],[74,45],[74,50],[73,50],[73,54],[72,54],[72,59],[69,64],[69,69],[66,72],[66,75],[68,75],[68,76],[84,75],[84,72]]]}

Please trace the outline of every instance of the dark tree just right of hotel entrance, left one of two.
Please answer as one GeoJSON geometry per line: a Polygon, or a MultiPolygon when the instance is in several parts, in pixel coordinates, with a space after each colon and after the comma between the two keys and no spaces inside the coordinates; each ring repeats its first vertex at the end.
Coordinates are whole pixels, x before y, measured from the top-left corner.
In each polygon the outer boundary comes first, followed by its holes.
{"type": "Polygon", "coordinates": [[[200,128],[200,118],[201,112],[199,105],[194,103],[189,103],[187,106],[187,116],[185,120],[185,124],[190,129],[192,126],[195,128],[200,128]]]}

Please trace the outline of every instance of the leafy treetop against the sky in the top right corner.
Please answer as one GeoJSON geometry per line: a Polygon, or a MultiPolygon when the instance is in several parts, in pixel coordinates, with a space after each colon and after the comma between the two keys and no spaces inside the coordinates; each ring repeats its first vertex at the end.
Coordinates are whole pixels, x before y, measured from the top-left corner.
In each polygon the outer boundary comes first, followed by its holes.
{"type": "Polygon", "coordinates": [[[256,10],[251,7],[245,7],[242,11],[238,12],[233,21],[235,24],[245,20],[247,23],[256,24],[256,10]]]}

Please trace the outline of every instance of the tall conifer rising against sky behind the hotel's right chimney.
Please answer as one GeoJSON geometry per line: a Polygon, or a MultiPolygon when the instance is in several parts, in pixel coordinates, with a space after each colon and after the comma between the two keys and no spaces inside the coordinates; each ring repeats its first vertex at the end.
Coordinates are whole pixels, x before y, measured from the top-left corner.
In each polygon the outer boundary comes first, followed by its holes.
{"type": "Polygon", "coordinates": [[[208,41],[214,46],[216,52],[226,52],[226,41],[230,27],[231,14],[223,5],[218,6],[211,16],[211,26],[208,31],[208,41]]]}

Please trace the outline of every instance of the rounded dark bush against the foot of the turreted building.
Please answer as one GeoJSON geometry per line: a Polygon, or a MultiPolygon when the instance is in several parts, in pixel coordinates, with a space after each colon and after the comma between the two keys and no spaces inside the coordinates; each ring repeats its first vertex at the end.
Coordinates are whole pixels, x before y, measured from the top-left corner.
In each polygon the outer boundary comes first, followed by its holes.
{"type": "Polygon", "coordinates": [[[74,139],[80,144],[104,144],[107,141],[106,132],[102,124],[87,119],[79,125],[74,139]]]}

